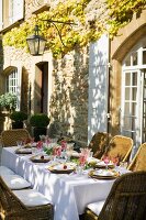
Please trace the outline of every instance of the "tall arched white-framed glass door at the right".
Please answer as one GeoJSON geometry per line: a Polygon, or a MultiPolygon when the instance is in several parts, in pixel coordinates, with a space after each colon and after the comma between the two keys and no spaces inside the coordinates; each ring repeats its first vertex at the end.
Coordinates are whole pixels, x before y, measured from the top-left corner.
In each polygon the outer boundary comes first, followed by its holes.
{"type": "Polygon", "coordinates": [[[123,61],[121,103],[121,133],[138,146],[146,142],[146,37],[123,61]]]}

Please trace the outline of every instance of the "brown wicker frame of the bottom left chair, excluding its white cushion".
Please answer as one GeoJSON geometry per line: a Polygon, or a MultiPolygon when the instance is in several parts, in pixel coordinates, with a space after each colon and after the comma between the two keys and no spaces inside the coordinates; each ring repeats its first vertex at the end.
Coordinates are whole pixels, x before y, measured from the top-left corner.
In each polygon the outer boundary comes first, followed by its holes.
{"type": "MultiPolygon", "coordinates": [[[[16,190],[18,194],[26,190],[16,190]]],[[[45,198],[45,197],[43,197],[45,198]]],[[[33,198],[32,198],[33,199],[33,198]]],[[[42,199],[42,197],[41,197],[42,199]]],[[[44,199],[45,200],[45,199],[44,199]]],[[[25,206],[0,177],[0,219],[2,220],[53,220],[53,205],[48,200],[42,201],[43,205],[25,206]]]]}

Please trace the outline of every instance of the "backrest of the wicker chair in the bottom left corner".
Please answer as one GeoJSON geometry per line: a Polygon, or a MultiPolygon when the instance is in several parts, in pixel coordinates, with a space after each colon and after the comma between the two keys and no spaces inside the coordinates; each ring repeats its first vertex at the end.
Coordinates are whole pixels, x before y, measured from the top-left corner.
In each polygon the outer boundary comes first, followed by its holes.
{"type": "Polygon", "coordinates": [[[5,185],[4,180],[0,176],[0,208],[2,210],[21,211],[26,207],[21,202],[20,199],[12,193],[12,190],[5,185]]]}

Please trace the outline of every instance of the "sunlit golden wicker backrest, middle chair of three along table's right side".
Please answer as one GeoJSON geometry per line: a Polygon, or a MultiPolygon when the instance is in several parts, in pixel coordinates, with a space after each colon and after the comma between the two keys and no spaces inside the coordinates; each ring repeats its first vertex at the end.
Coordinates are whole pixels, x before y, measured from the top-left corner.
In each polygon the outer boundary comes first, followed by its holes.
{"type": "Polygon", "coordinates": [[[120,162],[128,160],[133,147],[133,140],[123,135],[115,135],[111,139],[106,155],[111,157],[119,157],[120,162]]]}

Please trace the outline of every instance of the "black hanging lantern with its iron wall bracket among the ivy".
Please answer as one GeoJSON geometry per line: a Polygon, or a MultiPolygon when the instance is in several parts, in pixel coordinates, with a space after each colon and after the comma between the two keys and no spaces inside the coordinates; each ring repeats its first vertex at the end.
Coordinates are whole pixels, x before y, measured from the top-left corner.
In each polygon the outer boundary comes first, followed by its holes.
{"type": "MultiPolygon", "coordinates": [[[[49,22],[55,26],[55,29],[58,32],[60,42],[64,46],[65,46],[65,44],[61,40],[61,33],[59,32],[59,30],[55,23],[63,23],[66,25],[71,25],[71,24],[77,25],[72,22],[61,22],[61,21],[53,21],[53,20],[42,20],[42,21],[49,22]]],[[[45,51],[46,40],[43,36],[38,35],[38,31],[40,31],[38,25],[35,25],[34,34],[26,37],[29,51],[30,51],[31,55],[33,55],[33,56],[43,55],[44,51],[45,51]]]]}

